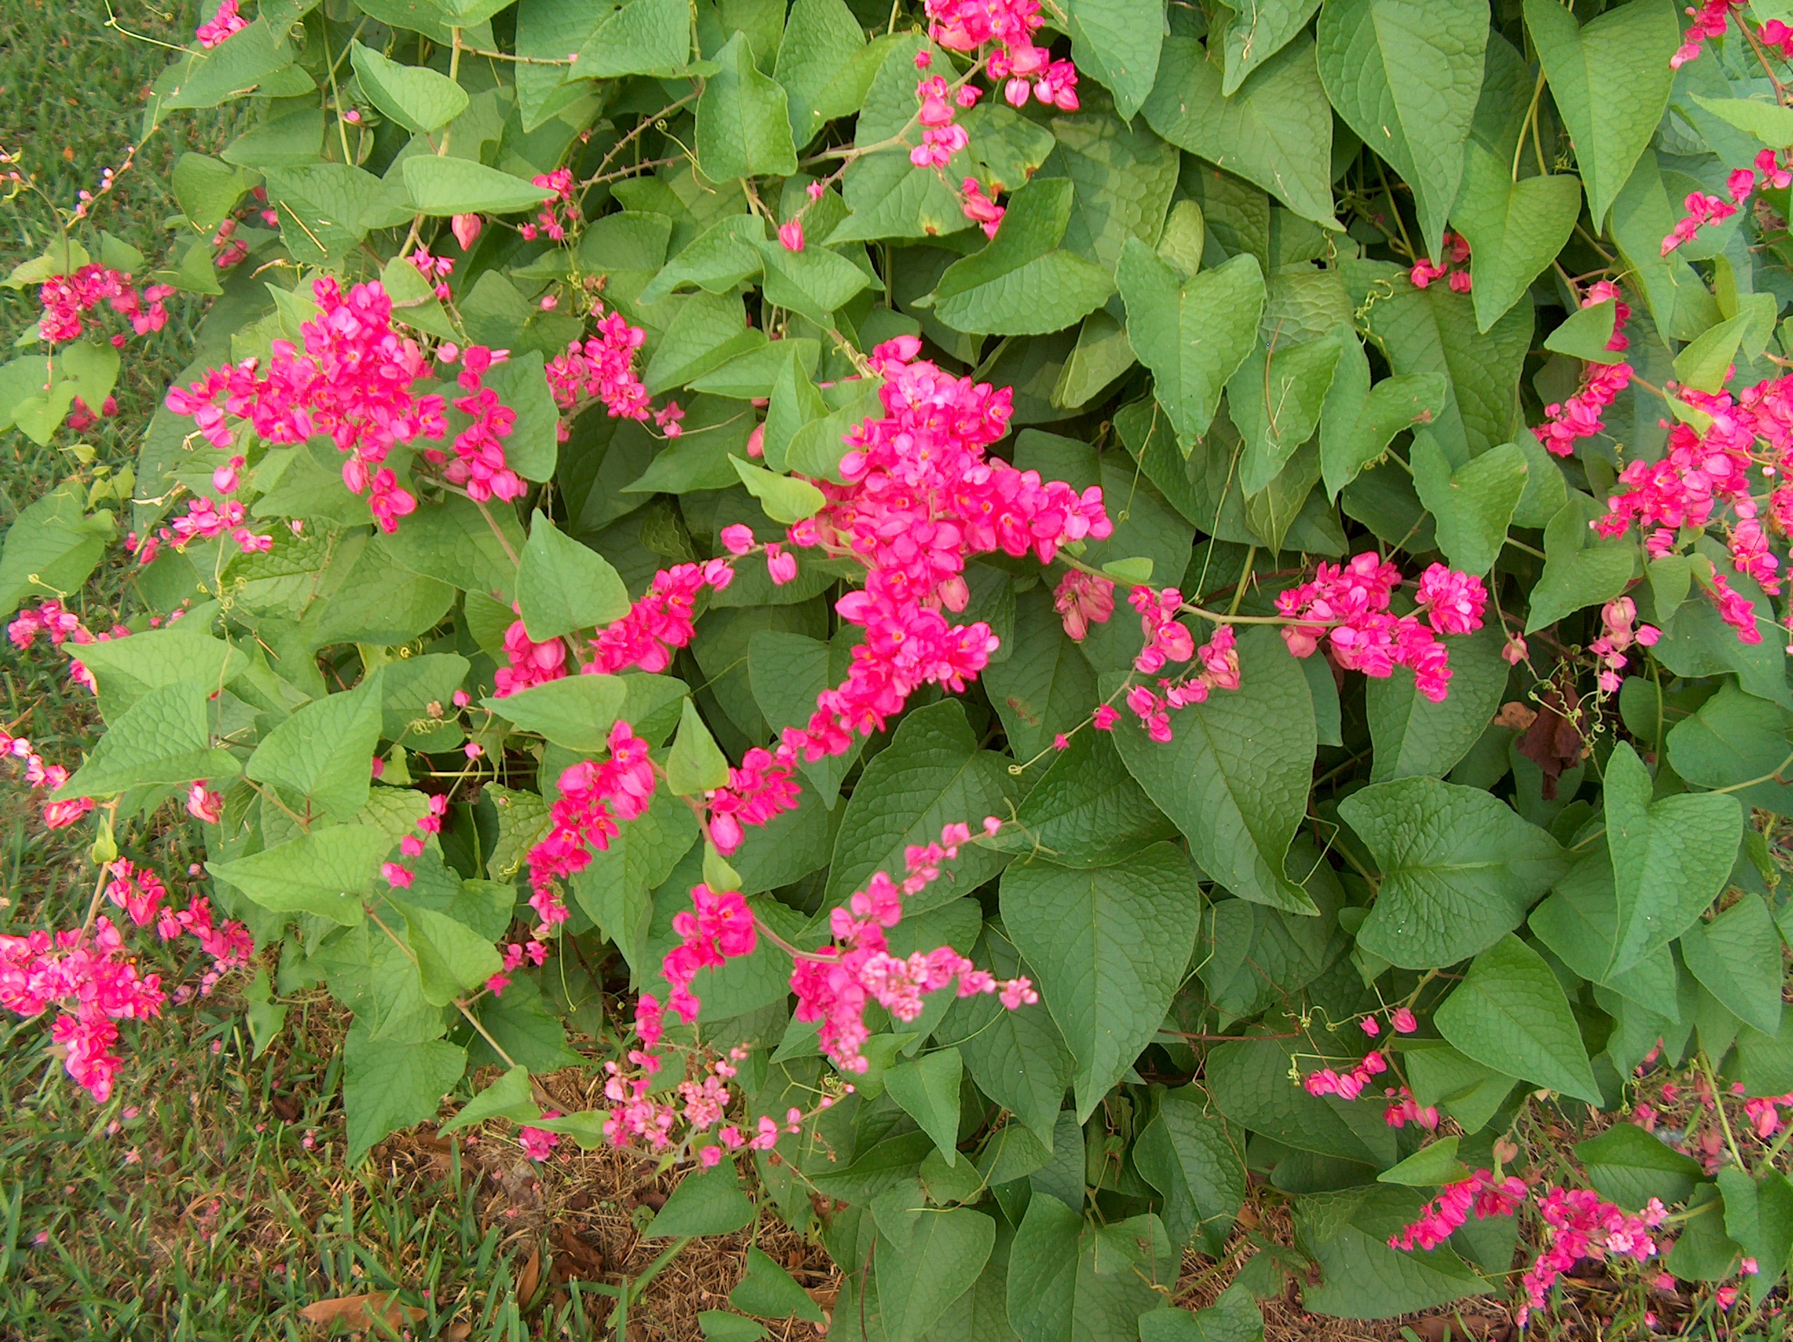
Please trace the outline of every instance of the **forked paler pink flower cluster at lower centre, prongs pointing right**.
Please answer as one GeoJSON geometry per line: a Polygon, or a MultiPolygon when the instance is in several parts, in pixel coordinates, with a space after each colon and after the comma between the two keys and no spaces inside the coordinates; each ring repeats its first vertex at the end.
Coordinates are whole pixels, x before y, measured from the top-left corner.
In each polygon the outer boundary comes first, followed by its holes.
{"type": "MultiPolygon", "coordinates": [[[[1002,822],[995,816],[984,820],[986,836],[1000,829],[1002,822]]],[[[834,942],[816,953],[794,956],[791,990],[796,994],[796,1019],[819,1023],[821,1051],[843,1071],[866,1069],[861,1046],[870,1033],[864,1012],[873,1001],[891,1017],[913,1021],[922,1014],[922,998],[954,980],[957,996],[993,992],[1008,1010],[1040,999],[1029,980],[999,981],[950,946],[916,951],[907,958],[889,953],[884,931],[902,920],[902,901],[938,881],[940,865],[957,858],[959,847],[970,841],[970,825],[947,825],[940,832],[940,843],[911,845],[904,850],[907,876],[900,884],[884,872],[875,872],[864,890],[830,911],[828,931],[834,942]]]]}

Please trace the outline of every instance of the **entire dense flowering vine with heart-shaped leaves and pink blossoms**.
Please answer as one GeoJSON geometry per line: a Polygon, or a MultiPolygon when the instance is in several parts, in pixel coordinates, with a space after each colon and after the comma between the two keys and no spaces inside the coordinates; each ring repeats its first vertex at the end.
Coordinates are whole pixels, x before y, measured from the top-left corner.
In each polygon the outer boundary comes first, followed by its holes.
{"type": "Polygon", "coordinates": [[[224,0],[163,267],[108,176],[9,280],[72,470],[0,608],[106,730],[4,737],[95,890],[0,1005],[113,1103],[170,992],[265,1048],[325,985],[350,1159],[633,1146],[649,1236],[771,1209],[891,1342],[1537,1322],[1583,1259],[1621,1331],[1773,1320],[1793,7],[1689,16],[224,0]]]}

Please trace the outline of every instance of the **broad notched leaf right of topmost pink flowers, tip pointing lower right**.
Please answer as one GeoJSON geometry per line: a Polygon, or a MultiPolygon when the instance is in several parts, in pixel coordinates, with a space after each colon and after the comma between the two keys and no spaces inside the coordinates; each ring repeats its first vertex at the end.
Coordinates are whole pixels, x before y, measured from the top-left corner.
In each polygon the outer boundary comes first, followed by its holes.
{"type": "Polygon", "coordinates": [[[1332,221],[1332,109],[1305,38],[1268,57],[1230,97],[1198,41],[1165,38],[1140,111],[1178,149],[1255,181],[1304,219],[1332,221]]]}

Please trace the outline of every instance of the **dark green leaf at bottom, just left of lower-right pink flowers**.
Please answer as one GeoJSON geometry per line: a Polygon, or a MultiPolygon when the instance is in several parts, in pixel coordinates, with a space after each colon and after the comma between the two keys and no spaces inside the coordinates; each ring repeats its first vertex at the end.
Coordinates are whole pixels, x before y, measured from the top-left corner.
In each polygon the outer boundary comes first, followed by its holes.
{"type": "Polygon", "coordinates": [[[1320,1283],[1302,1288],[1302,1304],[1336,1319],[1384,1319],[1486,1294],[1488,1283],[1451,1249],[1388,1245],[1418,1216],[1420,1202],[1418,1191],[1388,1184],[1296,1202],[1296,1234],[1320,1268],[1320,1283]]]}

